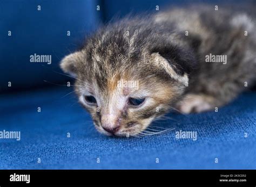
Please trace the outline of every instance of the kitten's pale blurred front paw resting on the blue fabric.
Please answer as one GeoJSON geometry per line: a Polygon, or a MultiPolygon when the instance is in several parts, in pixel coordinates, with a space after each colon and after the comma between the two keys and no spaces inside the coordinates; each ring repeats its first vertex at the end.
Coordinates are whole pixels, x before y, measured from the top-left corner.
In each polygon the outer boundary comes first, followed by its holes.
{"type": "Polygon", "coordinates": [[[188,94],[178,104],[178,110],[181,113],[204,112],[214,109],[214,98],[207,95],[188,94]]]}

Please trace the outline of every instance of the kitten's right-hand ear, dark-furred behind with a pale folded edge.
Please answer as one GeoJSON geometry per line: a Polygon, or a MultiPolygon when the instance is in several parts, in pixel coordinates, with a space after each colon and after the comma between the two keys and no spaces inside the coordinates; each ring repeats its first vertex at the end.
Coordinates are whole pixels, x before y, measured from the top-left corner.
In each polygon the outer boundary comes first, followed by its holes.
{"type": "Polygon", "coordinates": [[[174,80],[185,85],[189,75],[196,69],[194,56],[175,47],[154,49],[151,56],[157,67],[163,68],[174,80]]]}

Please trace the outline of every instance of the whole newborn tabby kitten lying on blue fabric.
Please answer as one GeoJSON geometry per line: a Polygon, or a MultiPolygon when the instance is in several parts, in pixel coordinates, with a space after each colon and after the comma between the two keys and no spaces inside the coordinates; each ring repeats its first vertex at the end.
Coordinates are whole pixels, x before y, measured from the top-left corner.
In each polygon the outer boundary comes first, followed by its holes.
{"type": "Polygon", "coordinates": [[[60,66],[76,77],[79,102],[99,132],[133,136],[170,109],[213,110],[251,87],[255,30],[255,17],[214,6],[128,17],[60,66]]]}

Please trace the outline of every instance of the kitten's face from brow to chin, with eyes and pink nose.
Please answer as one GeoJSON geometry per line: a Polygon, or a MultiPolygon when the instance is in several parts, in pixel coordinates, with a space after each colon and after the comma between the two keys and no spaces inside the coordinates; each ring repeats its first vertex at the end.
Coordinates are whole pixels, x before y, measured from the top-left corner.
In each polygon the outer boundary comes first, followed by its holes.
{"type": "Polygon", "coordinates": [[[169,109],[176,90],[157,77],[143,79],[118,74],[109,78],[104,88],[97,82],[86,83],[86,87],[77,86],[77,93],[100,133],[133,136],[169,109]]]}

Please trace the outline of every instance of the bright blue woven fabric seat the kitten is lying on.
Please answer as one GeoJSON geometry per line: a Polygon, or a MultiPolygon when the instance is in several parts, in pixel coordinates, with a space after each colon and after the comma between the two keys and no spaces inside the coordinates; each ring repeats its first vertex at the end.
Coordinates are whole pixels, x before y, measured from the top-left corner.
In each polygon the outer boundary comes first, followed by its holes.
{"type": "Polygon", "coordinates": [[[218,112],[170,113],[172,120],[153,124],[175,128],[166,134],[111,138],[95,130],[76,96],[66,95],[71,91],[62,87],[0,96],[0,131],[21,131],[20,141],[0,139],[1,169],[256,169],[255,92],[218,112]],[[179,130],[197,131],[197,141],[177,140],[179,130]]]}

